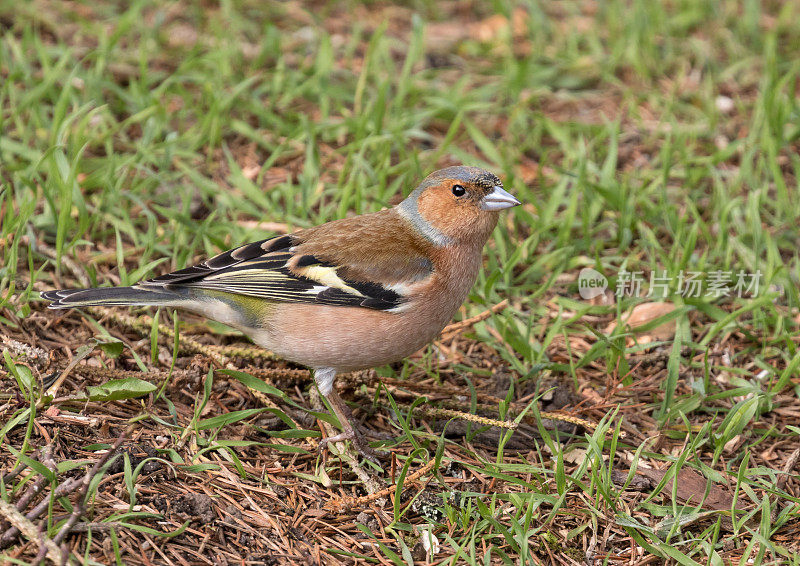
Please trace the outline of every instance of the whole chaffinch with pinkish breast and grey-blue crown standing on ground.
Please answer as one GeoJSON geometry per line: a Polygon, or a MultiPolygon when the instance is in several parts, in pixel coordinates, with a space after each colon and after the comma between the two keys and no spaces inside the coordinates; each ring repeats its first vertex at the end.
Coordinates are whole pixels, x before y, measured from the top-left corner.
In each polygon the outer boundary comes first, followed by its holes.
{"type": "MultiPolygon", "coordinates": [[[[498,211],[519,201],[477,167],[431,173],[397,206],[229,250],[132,287],[46,291],[51,309],[158,305],[238,328],[256,344],[308,366],[343,432],[337,373],[419,350],[467,297],[498,211]]],[[[323,442],[323,445],[325,441],[323,442]]]]}

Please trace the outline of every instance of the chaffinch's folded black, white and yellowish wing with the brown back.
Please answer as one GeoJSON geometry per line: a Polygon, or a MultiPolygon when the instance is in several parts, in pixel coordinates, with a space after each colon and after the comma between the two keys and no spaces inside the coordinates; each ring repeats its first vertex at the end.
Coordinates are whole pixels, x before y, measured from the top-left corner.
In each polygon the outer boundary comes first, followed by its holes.
{"type": "Polygon", "coordinates": [[[403,304],[400,284],[431,275],[433,265],[391,211],[323,224],[246,244],[202,263],[143,281],[144,287],[192,288],[276,302],[306,302],[390,310],[403,304]],[[388,228],[384,217],[387,217],[388,228]],[[398,243],[399,242],[399,243],[398,243]],[[419,249],[418,249],[419,248],[419,249]]]}

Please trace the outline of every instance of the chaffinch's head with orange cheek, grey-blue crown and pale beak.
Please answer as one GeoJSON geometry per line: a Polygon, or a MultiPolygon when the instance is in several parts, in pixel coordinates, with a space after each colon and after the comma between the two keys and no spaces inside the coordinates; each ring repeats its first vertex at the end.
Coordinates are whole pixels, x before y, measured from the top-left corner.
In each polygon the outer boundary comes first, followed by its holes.
{"type": "Polygon", "coordinates": [[[398,212],[435,245],[472,241],[483,245],[498,212],[520,202],[496,175],[478,167],[447,167],[428,175],[398,212]]]}

